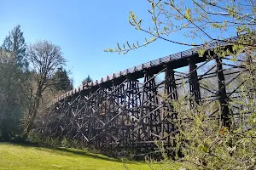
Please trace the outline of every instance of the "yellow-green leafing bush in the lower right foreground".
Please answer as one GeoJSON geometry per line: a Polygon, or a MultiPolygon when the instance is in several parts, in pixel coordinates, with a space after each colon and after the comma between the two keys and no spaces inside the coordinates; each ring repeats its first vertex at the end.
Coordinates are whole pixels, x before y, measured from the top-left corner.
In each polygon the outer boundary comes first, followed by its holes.
{"type": "Polygon", "coordinates": [[[218,117],[207,115],[211,110],[207,103],[190,110],[189,102],[174,102],[178,113],[174,123],[179,130],[172,136],[175,161],[167,157],[163,144],[158,143],[162,161],[170,165],[166,169],[175,169],[172,164],[177,161],[181,162],[181,169],[189,170],[256,168],[256,95],[255,91],[248,93],[252,90],[247,85],[241,88],[246,92],[241,99],[230,101],[232,105],[242,105],[238,115],[230,116],[230,127],[224,127],[218,117]]]}

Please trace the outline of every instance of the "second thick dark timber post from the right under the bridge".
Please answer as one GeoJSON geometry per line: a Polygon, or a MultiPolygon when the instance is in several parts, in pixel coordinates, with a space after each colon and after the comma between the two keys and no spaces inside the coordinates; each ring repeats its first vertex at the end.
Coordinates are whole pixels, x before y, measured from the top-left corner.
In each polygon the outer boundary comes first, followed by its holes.
{"type": "Polygon", "coordinates": [[[200,86],[197,77],[197,66],[192,59],[188,59],[189,61],[189,88],[190,88],[190,105],[195,107],[194,101],[191,97],[195,98],[195,103],[199,104],[201,101],[201,93],[200,86]]]}

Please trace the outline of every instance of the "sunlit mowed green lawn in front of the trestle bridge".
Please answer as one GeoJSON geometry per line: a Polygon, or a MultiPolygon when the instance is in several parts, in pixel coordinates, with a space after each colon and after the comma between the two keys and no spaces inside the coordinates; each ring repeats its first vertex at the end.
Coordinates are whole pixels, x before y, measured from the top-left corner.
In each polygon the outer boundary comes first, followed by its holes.
{"type": "Polygon", "coordinates": [[[146,163],[119,161],[89,151],[0,143],[0,169],[150,169],[146,163]]]}

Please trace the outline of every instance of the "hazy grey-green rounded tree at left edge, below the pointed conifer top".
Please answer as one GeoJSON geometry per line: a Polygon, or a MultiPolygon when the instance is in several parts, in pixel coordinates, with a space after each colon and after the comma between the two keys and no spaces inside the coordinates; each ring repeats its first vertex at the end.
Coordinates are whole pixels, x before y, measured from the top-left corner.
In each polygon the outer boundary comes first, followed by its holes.
{"type": "Polygon", "coordinates": [[[26,109],[24,73],[15,56],[0,49],[0,140],[15,139],[22,132],[21,118],[26,109]]]}

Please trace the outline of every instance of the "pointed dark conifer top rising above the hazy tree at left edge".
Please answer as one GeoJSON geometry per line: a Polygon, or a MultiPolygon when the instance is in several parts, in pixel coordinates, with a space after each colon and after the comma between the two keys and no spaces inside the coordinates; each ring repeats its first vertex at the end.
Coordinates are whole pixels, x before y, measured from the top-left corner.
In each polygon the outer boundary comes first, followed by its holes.
{"type": "Polygon", "coordinates": [[[2,45],[3,50],[12,52],[15,56],[15,63],[25,71],[28,67],[26,60],[26,42],[23,37],[23,32],[20,31],[20,26],[9,32],[9,36],[5,37],[2,45]]]}

